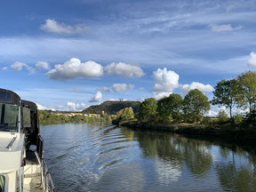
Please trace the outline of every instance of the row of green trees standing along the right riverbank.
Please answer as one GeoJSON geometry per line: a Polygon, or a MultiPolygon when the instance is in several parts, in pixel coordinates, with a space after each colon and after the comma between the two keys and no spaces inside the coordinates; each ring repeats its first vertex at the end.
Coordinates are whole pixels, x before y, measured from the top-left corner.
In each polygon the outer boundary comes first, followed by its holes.
{"type": "MultiPolygon", "coordinates": [[[[186,121],[200,122],[204,115],[210,110],[210,106],[218,105],[228,108],[229,116],[234,118],[233,109],[248,110],[244,119],[254,122],[256,120],[256,73],[248,71],[234,79],[222,80],[213,92],[213,99],[198,89],[191,90],[184,97],[172,93],[161,100],[149,98],[140,104],[136,117],[140,121],[186,121]]],[[[219,117],[227,116],[226,111],[220,110],[219,117]]],[[[242,116],[243,117],[243,116],[242,116]]]]}

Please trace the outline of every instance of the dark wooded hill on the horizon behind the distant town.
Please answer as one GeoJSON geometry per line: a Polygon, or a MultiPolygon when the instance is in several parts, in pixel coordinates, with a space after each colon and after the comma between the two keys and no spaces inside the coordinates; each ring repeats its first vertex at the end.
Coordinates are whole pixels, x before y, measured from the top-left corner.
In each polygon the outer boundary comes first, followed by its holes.
{"type": "Polygon", "coordinates": [[[94,105],[85,108],[82,113],[85,114],[101,114],[102,111],[108,115],[116,115],[116,112],[123,109],[132,107],[134,113],[137,113],[140,107],[139,101],[105,101],[100,105],[94,105]]]}

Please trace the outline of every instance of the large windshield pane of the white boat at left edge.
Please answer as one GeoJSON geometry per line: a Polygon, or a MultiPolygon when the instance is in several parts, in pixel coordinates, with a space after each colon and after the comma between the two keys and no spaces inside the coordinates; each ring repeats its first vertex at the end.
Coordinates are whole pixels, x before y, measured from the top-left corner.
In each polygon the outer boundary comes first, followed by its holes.
{"type": "Polygon", "coordinates": [[[19,107],[0,103],[0,132],[18,132],[19,107]]]}

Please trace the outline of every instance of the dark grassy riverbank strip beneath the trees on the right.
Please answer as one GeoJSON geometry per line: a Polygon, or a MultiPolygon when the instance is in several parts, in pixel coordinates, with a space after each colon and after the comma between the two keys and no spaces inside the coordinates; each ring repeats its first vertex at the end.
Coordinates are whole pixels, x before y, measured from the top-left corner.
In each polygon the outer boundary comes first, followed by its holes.
{"type": "MultiPolygon", "coordinates": [[[[116,124],[117,122],[112,122],[116,124]]],[[[232,140],[255,140],[256,130],[254,128],[244,128],[232,124],[188,124],[188,123],[168,123],[156,122],[124,121],[119,122],[120,126],[141,131],[174,132],[184,135],[201,135],[207,137],[218,137],[232,140]]]]}

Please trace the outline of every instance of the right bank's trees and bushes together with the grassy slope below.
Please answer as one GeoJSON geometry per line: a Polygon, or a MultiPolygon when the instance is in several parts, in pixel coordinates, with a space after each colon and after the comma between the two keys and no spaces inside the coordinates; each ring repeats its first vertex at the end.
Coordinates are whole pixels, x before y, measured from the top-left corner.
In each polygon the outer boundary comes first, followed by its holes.
{"type": "Polygon", "coordinates": [[[184,99],[175,93],[161,100],[149,98],[140,104],[135,115],[132,108],[120,110],[113,124],[140,130],[255,139],[256,73],[248,71],[234,79],[220,81],[213,95],[209,101],[203,92],[194,89],[184,99]],[[205,116],[211,104],[228,108],[229,114],[222,109],[216,117],[205,116]],[[244,113],[234,114],[234,108],[244,113]]]}

